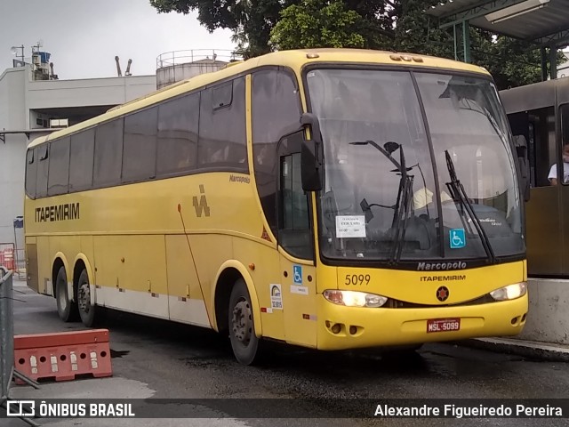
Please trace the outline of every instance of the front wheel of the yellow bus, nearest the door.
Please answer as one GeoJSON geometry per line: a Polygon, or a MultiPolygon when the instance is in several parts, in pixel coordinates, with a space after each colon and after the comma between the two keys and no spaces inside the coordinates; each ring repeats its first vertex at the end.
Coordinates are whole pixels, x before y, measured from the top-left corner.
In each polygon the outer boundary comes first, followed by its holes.
{"type": "Polygon", "coordinates": [[[259,361],[260,340],[255,335],[251,296],[243,278],[231,290],[228,321],[229,340],[237,361],[243,365],[259,361]]]}

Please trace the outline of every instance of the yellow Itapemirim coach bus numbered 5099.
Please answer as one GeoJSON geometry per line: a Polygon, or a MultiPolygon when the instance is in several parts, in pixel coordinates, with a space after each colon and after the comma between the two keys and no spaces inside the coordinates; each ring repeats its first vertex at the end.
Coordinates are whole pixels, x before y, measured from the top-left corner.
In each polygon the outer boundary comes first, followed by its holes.
{"type": "Polygon", "coordinates": [[[523,203],[484,68],[274,52],[33,141],[28,286],[321,350],[518,334],[523,203]]]}

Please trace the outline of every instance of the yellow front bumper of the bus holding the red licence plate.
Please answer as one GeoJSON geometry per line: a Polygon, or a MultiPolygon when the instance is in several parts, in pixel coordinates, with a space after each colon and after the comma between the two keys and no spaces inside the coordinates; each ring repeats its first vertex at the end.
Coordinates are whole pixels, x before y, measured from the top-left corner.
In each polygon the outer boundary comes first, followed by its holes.
{"type": "Polygon", "coordinates": [[[528,308],[527,294],[503,302],[419,309],[345,307],[322,295],[317,301],[320,350],[516,335],[524,328],[528,308]]]}

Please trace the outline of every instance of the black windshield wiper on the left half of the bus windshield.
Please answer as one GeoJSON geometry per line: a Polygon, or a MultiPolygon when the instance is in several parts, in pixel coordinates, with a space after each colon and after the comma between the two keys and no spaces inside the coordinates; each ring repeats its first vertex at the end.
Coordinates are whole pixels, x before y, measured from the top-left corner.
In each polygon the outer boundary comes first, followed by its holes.
{"type": "MultiPolygon", "coordinates": [[[[389,256],[390,263],[397,263],[401,259],[401,253],[403,252],[403,243],[405,241],[407,220],[409,218],[409,211],[411,210],[411,195],[413,194],[413,175],[409,175],[407,173],[408,169],[405,165],[405,154],[403,152],[403,147],[401,144],[393,141],[386,142],[383,147],[381,147],[381,145],[379,145],[377,142],[371,140],[349,142],[349,144],[373,146],[373,148],[380,151],[383,156],[388,157],[389,161],[396,166],[397,171],[401,173],[399,188],[397,189],[397,202],[393,206],[395,212],[393,213],[393,222],[391,224],[395,245],[393,246],[391,254],[389,256]],[[391,156],[391,153],[397,149],[399,149],[399,162],[397,162],[397,160],[391,156]],[[401,227],[402,220],[403,228],[401,227]]],[[[362,206],[362,209],[365,209],[365,206],[369,207],[377,204],[368,205],[364,199],[360,205],[362,206]]],[[[381,207],[391,206],[381,205],[381,207]]],[[[368,215],[367,213],[365,214],[367,218],[368,215]]]]}

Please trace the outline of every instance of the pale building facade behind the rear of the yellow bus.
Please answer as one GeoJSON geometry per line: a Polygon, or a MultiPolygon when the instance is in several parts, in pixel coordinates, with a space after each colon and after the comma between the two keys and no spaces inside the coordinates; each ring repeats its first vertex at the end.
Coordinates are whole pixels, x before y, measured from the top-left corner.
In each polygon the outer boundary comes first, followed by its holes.
{"type": "Polygon", "coordinates": [[[34,64],[18,65],[0,74],[0,244],[23,248],[14,220],[23,215],[28,143],[154,92],[156,76],[58,80],[38,78],[34,64]]]}

